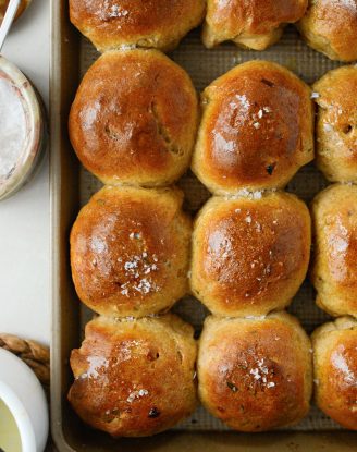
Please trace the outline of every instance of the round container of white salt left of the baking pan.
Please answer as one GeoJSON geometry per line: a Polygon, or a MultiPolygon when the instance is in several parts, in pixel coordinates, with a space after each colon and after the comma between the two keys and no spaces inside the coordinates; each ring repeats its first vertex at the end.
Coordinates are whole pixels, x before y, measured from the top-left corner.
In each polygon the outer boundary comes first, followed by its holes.
{"type": "Polygon", "coordinates": [[[46,142],[42,101],[25,75],[0,56],[0,200],[29,180],[46,142]]]}

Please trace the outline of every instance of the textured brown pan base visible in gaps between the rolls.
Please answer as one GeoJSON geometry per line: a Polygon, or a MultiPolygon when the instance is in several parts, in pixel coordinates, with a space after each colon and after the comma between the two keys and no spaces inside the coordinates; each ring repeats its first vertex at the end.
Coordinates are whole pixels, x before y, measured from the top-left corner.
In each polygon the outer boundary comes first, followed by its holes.
{"type": "MultiPolygon", "coordinates": [[[[324,56],[311,50],[299,38],[294,27],[286,28],[283,39],[272,48],[263,52],[241,50],[233,44],[225,44],[213,50],[207,50],[200,42],[197,30],[189,34],[181,46],[171,54],[174,61],[181,64],[193,78],[197,90],[201,91],[214,78],[224,74],[235,65],[245,61],[260,59],[283,64],[308,84],[312,84],[327,71],[337,68],[338,63],[330,61],[324,56]]],[[[88,40],[83,38],[81,48],[82,75],[88,66],[98,58],[98,53],[88,40]]],[[[287,191],[295,193],[307,203],[327,185],[322,174],[309,164],[303,168],[288,184],[287,191]]],[[[195,213],[208,199],[209,193],[188,172],[180,182],[185,194],[185,208],[195,213]]],[[[81,201],[86,204],[89,197],[101,187],[101,183],[84,169],[81,173],[81,201]]],[[[310,333],[317,326],[329,320],[329,316],[315,305],[315,293],[311,284],[306,281],[295,296],[288,310],[296,315],[304,328],[310,333]]],[[[207,315],[204,306],[193,297],[177,303],[174,311],[189,321],[199,333],[202,320],[207,315]]],[[[83,307],[83,326],[91,318],[93,314],[83,307]]],[[[227,430],[218,419],[209,415],[202,407],[176,427],[180,430],[227,430]]],[[[331,430],[340,429],[330,418],[323,415],[317,407],[312,407],[309,415],[297,426],[290,430],[331,430]]]]}

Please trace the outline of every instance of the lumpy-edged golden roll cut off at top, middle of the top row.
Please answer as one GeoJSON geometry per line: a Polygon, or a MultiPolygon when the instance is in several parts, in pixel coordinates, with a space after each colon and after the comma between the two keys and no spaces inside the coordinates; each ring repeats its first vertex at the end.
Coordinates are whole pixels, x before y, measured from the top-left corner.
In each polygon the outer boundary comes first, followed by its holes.
{"type": "Polygon", "coordinates": [[[208,0],[204,44],[225,40],[264,50],[282,36],[284,25],[303,17],[308,0],[208,0]]]}

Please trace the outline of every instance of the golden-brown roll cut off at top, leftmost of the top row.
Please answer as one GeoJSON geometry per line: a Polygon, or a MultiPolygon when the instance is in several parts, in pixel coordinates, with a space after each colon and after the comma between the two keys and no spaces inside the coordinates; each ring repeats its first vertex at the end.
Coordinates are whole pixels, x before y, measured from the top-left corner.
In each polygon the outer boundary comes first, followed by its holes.
{"type": "Polygon", "coordinates": [[[71,22],[100,51],[172,50],[204,19],[206,0],[70,0],[71,22]]]}

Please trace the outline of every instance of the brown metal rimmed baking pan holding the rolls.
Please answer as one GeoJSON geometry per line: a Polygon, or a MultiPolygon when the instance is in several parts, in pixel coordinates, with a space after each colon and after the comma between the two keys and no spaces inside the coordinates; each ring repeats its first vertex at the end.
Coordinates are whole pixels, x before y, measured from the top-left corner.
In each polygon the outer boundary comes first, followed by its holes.
{"type": "MultiPolygon", "coordinates": [[[[100,186],[75,158],[67,137],[67,117],[82,74],[97,58],[94,48],[79,36],[69,21],[67,0],[52,0],[51,56],[51,240],[52,240],[52,436],[60,451],[149,451],[149,452],[352,452],[357,449],[356,433],[337,429],[320,412],[294,430],[241,435],[223,430],[216,420],[198,411],[177,429],[153,438],[112,440],[87,428],[72,412],[66,392],[72,382],[69,355],[81,343],[83,323],[90,314],[78,303],[69,261],[71,225],[88,197],[100,186]],[[195,418],[196,416],[196,418],[195,418]],[[195,422],[194,422],[195,420],[195,422]],[[334,430],[332,430],[334,429],[334,430]]],[[[198,32],[184,39],[172,58],[192,75],[198,90],[232,66],[250,59],[267,59],[286,65],[312,83],[336,63],[308,49],[296,32],[286,30],[283,40],[270,50],[242,51],[233,45],[206,50],[198,32]]],[[[313,166],[300,171],[288,190],[309,201],[325,184],[313,166]]],[[[190,173],[180,186],[186,193],[186,208],[193,212],[208,194],[190,173]]],[[[296,297],[292,309],[308,331],[327,319],[313,304],[309,283],[296,297]]],[[[197,329],[205,315],[198,303],[185,300],[176,307],[197,329]]]]}

